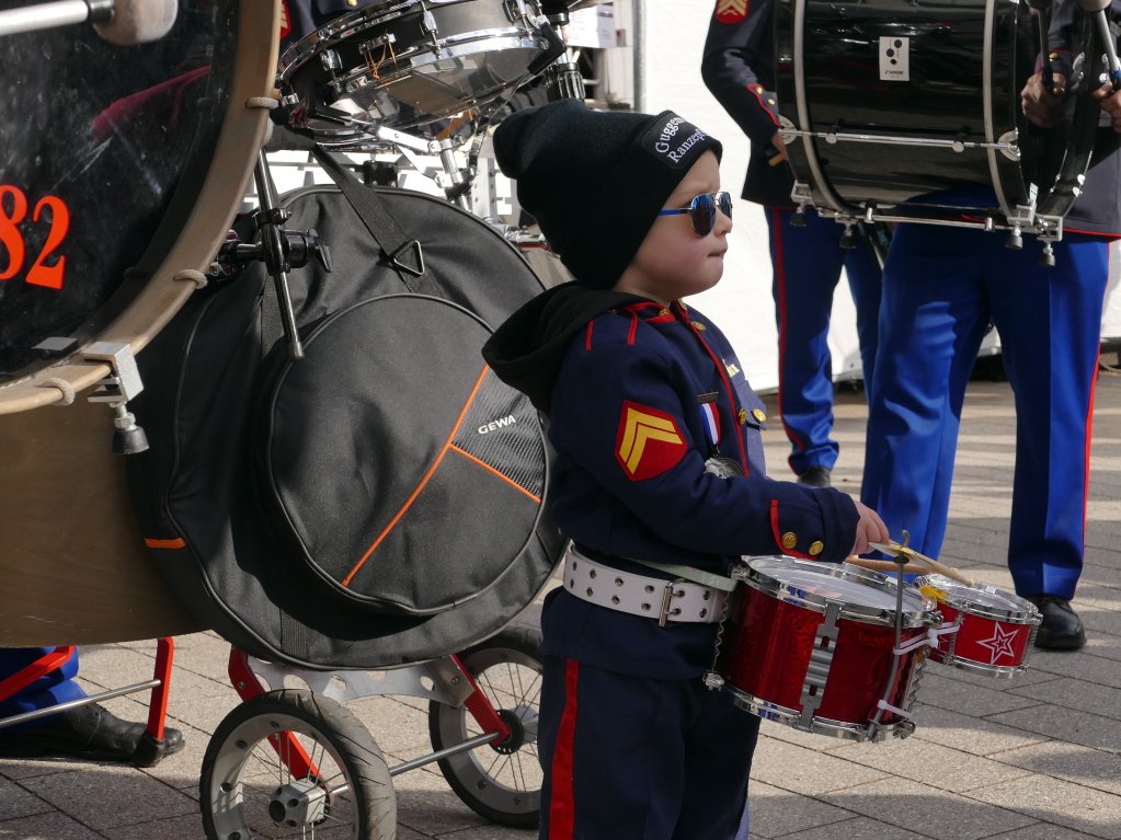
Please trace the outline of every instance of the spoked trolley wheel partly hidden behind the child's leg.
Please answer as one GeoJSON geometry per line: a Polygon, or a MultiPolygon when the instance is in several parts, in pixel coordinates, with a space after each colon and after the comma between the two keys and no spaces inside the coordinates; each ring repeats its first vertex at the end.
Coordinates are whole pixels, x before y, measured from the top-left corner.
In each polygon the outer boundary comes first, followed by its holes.
{"type": "MultiPolygon", "coordinates": [[[[488,820],[530,828],[541,808],[541,763],[537,756],[537,715],[541,694],[541,632],[507,627],[460,654],[491,704],[512,730],[497,747],[484,744],[441,759],[439,769],[456,795],[488,820]]],[[[434,750],[462,744],[483,730],[465,706],[428,706],[434,750]]]]}

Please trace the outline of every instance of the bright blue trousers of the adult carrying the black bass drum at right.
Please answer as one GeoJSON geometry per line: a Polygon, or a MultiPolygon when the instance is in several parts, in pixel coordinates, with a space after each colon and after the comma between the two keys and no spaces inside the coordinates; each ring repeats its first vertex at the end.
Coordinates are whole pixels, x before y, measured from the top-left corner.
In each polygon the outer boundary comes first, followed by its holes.
{"type": "MultiPolygon", "coordinates": [[[[1104,240],[1040,243],[902,224],[884,268],[861,501],[891,535],[942,550],[965,386],[990,319],[1016,399],[1008,566],[1021,596],[1071,598],[1082,571],[1090,421],[1108,282],[1104,240]]],[[[1009,441],[1011,442],[1011,441],[1009,441]]]]}

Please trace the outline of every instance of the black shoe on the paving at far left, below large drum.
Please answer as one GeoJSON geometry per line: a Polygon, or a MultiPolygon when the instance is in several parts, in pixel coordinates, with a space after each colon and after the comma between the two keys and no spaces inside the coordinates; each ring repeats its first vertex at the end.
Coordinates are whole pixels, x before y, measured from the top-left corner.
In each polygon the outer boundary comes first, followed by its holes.
{"type": "MultiPolygon", "coordinates": [[[[34,729],[11,735],[0,730],[0,756],[38,758],[68,755],[93,762],[129,762],[136,757],[146,728],[143,724],[121,720],[108,709],[91,703],[71,709],[34,729]]],[[[183,732],[164,729],[160,757],[178,753],[183,746],[183,732]]]]}

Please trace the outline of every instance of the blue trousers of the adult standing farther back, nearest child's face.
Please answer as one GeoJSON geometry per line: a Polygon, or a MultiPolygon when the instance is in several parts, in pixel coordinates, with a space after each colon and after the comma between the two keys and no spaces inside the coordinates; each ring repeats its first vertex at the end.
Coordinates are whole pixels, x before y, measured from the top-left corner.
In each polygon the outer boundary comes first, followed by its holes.
{"type": "Polygon", "coordinates": [[[828,347],[833,290],[843,268],[856,305],[856,334],[864,381],[876,362],[880,310],[880,268],[862,235],[856,248],[841,248],[836,222],[806,211],[806,226],[790,224],[794,211],[767,208],[778,324],[779,413],[790,439],[790,468],[833,468],[839,447],[833,431],[833,363],[828,347]]]}

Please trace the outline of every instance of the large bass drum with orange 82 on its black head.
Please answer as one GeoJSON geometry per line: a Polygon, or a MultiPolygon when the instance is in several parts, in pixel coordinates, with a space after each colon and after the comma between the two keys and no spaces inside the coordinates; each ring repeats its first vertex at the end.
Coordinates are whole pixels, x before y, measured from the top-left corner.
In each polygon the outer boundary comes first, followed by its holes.
{"type": "Polygon", "coordinates": [[[91,344],[139,352],[224,241],[268,123],[278,12],[183,0],[152,44],[0,39],[0,646],[198,628],[145,548],[112,412],[75,392],[110,373],[91,344]]]}

